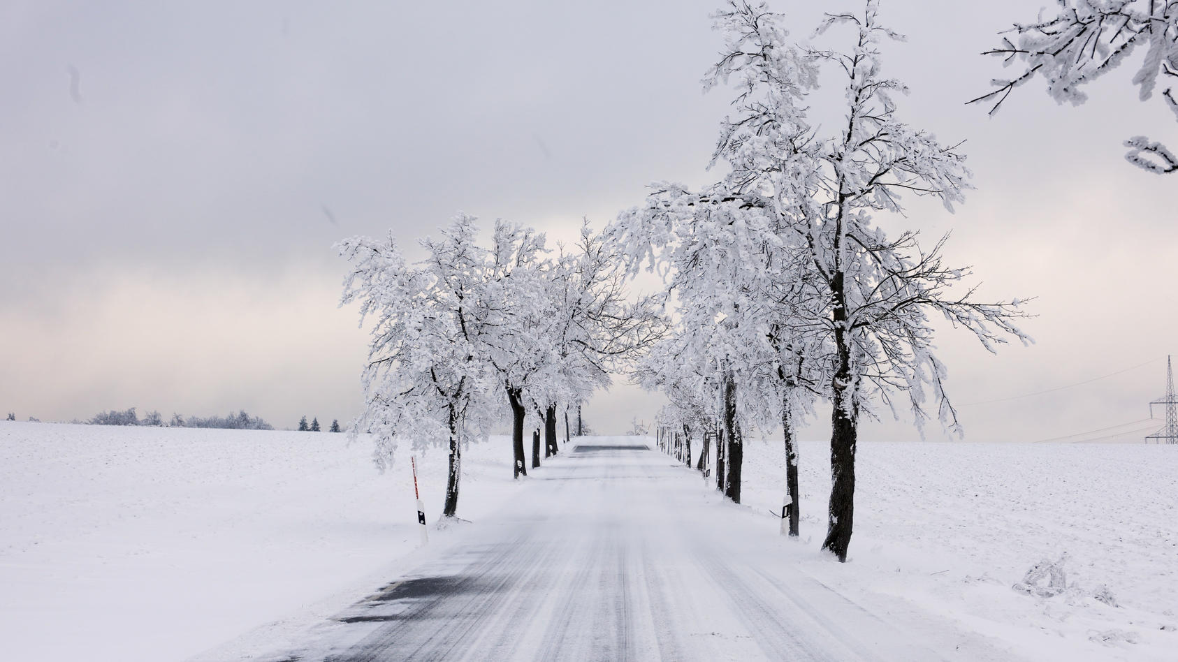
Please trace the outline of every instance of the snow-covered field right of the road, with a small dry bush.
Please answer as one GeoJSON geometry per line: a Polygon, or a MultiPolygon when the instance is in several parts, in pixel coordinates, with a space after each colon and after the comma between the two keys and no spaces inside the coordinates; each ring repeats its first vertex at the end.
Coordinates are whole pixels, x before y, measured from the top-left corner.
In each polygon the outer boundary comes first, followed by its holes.
{"type": "MultiPolygon", "coordinates": [[[[750,445],[743,501],[768,518],[785,452],[750,445]]],[[[827,448],[801,446],[801,537],[815,556],[827,448]]],[[[849,563],[812,568],[845,594],[941,614],[1028,660],[1178,658],[1178,446],[860,443],[855,474],[849,563]],[[1012,588],[1065,552],[1061,595],[1012,588]],[[1093,597],[1101,587],[1118,607],[1093,597]]]]}

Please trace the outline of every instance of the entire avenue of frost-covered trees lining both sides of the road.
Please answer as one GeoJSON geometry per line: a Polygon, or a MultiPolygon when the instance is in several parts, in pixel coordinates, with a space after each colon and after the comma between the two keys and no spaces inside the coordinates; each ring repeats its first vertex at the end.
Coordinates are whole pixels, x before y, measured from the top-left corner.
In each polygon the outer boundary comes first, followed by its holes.
{"type": "MultiPolygon", "coordinates": [[[[406,264],[395,240],[342,243],[353,269],[343,304],[375,318],[364,371],[364,412],[382,466],[398,439],[444,443],[450,476],[444,515],[458,498],[462,445],[487,436],[507,404],[515,475],[527,474],[524,417],[544,421],[577,406],[610,372],[666,393],[660,430],[682,435],[676,454],[708,470],[739,502],[744,430],[780,425],[787,457],[786,519],[798,535],[798,426],[830,403],[828,528],[823,549],[846,561],[854,521],[859,422],[873,402],[896,412],[906,400],[918,425],[935,416],[957,429],[933,353],[931,317],[972,332],[987,349],[1030,338],[1015,326],[1018,299],[987,303],[962,285],[968,269],[942,262],[946,237],[924,245],[902,223],[904,196],[933,198],[952,212],[969,188],[958,145],[905,124],[881,74],[879,44],[899,39],[878,2],[827,14],[822,49],[789,39],[765,2],[730,0],[714,15],[723,34],[706,90],[730,87],[712,166],[727,173],[693,191],[659,183],[643,205],[601,237],[585,226],[575,250],[549,256],[544,237],[497,223],[490,247],[475,219],[458,216],[428,258],[406,264]],[[828,34],[829,33],[829,34],[828,34]],[[810,120],[820,81],[840,80],[841,118],[810,120]],[[623,282],[643,267],[666,291],[630,302],[623,282]],[[661,317],[670,312],[673,324],[661,317]],[[686,451],[686,452],[684,452],[686,451]]],[[[660,433],[660,436],[662,432],[660,433]]],[[[532,466],[540,464],[534,444],[532,466]]]]}

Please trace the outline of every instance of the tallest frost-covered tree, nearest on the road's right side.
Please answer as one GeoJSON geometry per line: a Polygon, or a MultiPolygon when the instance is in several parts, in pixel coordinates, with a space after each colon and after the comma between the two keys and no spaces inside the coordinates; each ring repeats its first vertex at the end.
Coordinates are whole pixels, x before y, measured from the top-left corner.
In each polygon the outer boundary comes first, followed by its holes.
{"type": "Polygon", "coordinates": [[[739,91],[716,151],[733,167],[728,180],[740,183],[730,193],[788,224],[794,264],[806,269],[803,282],[814,287],[810,305],[796,306],[790,325],[818,335],[820,342],[807,346],[827,351],[808,357],[823,363],[822,391],[833,404],[833,484],[822,547],[845,561],[859,419],[873,397],[894,411],[891,393],[901,392],[918,425],[932,408],[942,424],[957,428],[929,317],[969,330],[991,351],[1008,337],[1030,338],[1014,325],[1024,316],[1018,300],[981,303],[975,289],[953,289],[969,270],[944,264],[945,238],[924,247],[915,231],[889,237],[876,221],[904,212],[904,194],[935,198],[952,212],[969,178],[955,145],[899,119],[892,95],[906,88],[882,75],[879,44],[901,37],[880,24],[878,1],[867,0],[856,13],[826,15],[818,34],[848,28],[849,46],[841,49],[789,42],[782,18],[763,2],[730,2],[716,21],[726,49],[709,82],[739,91]],[[845,115],[841,126],[823,133],[807,108],[820,74],[829,72],[843,81],[845,115]]]}

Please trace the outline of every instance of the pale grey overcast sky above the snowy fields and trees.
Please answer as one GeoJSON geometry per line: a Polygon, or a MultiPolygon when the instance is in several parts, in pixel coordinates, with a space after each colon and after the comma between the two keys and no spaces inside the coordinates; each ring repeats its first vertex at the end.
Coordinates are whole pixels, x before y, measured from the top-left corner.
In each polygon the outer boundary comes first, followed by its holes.
{"type": "MultiPolygon", "coordinates": [[[[366,336],[337,309],[332,244],[391,229],[409,245],[458,210],[571,237],[651,180],[715,180],[704,166],[730,94],[700,79],[721,46],[717,5],[5,2],[0,410],[351,418],[366,336]]],[[[820,9],[860,6],[813,5],[773,4],[799,38],[820,9]]],[[[952,229],[947,253],[984,292],[1038,297],[1032,347],[994,357],[940,337],[967,439],[1146,418],[1176,349],[1178,179],[1133,168],[1120,141],[1178,143],[1172,117],[1137,101],[1126,68],[1085,106],[1057,106],[1037,81],[988,119],[962,105],[1002,73],[979,53],[1037,6],[928,6],[884,0],[908,35],[886,69],[912,87],[909,123],[967,139],[977,191],[954,216],[913,203],[882,223],[952,229]]],[[[587,417],[623,431],[656,408],[620,385],[587,417]]],[[[1143,425],[1112,432],[1138,439],[1143,425]]]]}

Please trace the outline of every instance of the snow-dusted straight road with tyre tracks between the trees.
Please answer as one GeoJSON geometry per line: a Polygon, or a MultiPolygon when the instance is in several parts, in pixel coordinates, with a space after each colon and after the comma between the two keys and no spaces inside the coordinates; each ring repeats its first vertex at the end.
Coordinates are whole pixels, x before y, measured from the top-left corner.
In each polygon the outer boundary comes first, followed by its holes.
{"type": "MultiPolygon", "coordinates": [[[[574,445],[496,516],[271,660],[937,660],[699,474],[574,445]]],[[[763,519],[762,519],[763,522],[763,519]]]]}

